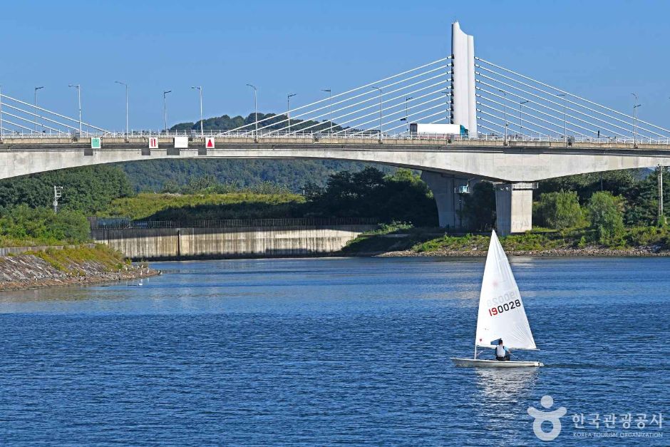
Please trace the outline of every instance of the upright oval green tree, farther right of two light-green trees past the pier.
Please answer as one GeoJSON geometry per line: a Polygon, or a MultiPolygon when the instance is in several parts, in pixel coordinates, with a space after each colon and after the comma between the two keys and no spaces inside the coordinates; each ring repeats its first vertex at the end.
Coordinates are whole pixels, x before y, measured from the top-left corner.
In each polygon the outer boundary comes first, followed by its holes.
{"type": "Polygon", "coordinates": [[[609,192],[596,192],[589,202],[591,227],[597,230],[598,241],[602,245],[620,245],[624,237],[622,201],[609,192]]]}

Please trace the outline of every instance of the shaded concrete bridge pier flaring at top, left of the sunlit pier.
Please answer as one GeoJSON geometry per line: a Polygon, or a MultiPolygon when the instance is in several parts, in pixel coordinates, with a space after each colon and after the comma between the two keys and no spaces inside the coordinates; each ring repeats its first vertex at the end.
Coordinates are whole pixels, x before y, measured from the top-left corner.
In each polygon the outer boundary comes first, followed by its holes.
{"type": "Polygon", "coordinates": [[[426,182],[433,191],[433,197],[438,206],[440,227],[462,229],[463,224],[460,221],[459,211],[463,204],[455,188],[468,185],[468,179],[425,170],[421,172],[421,180],[426,182]]]}

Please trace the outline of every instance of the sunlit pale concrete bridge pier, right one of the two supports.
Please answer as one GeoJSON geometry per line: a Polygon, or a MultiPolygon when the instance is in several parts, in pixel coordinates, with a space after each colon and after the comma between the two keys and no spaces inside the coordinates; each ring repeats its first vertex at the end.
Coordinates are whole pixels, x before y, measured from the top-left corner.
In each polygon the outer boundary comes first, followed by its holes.
{"type": "Polygon", "coordinates": [[[495,185],[495,226],[498,235],[522,233],[532,228],[532,190],[536,183],[495,185]]]}

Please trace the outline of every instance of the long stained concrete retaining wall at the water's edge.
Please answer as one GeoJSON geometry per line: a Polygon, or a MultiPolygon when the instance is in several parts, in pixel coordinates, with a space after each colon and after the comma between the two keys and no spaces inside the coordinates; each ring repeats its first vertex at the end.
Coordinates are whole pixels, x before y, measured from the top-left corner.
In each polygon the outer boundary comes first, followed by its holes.
{"type": "Polygon", "coordinates": [[[374,227],[124,228],[91,235],[133,260],[226,259],[324,255],[374,227]]]}

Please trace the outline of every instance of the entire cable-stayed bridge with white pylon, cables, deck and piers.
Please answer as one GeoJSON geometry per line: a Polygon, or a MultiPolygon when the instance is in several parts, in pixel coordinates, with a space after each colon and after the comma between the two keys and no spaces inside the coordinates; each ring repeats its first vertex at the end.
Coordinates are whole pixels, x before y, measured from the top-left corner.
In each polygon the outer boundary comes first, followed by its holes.
{"type": "MultiPolygon", "coordinates": [[[[634,95],[633,95],[634,96],[634,95]]],[[[351,160],[422,171],[440,226],[460,228],[459,195],[496,183],[501,234],[530,230],[537,180],[670,165],[670,130],[474,55],[452,29],[452,54],[232,130],[114,133],[0,93],[0,179],[158,158],[351,160]],[[453,123],[465,135],[411,133],[453,123]]]]}

